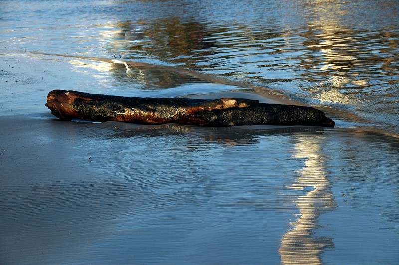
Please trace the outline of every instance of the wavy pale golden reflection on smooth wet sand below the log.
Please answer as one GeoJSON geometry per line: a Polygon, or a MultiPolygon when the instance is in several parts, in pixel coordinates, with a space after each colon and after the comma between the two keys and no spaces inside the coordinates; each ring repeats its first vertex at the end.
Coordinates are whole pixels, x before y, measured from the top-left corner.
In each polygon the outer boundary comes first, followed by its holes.
{"type": "Polygon", "coordinates": [[[322,135],[298,135],[295,143],[293,157],[304,160],[304,166],[289,188],[303,191],[305,195],[294,201],[299,217],[281,239],[279,254],[283,264],[321,264],[320,255],[324,249],[334,247],[332,238],[312,236],[318,227],[319,216],[337,207],[326,173],[326,158],[321,147],[323,139],[322,135]]]}

